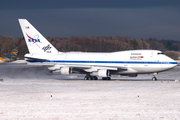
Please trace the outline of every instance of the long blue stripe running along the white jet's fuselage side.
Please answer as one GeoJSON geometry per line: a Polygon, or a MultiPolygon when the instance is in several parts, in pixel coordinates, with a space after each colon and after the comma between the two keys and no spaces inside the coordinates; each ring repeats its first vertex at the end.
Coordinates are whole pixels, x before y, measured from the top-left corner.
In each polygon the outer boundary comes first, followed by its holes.
{"type": "Polygon", "coordinates": [[[177,62],[146,62],[146,61],[65,61],[65,60],[50,60],[50,61],[37,61],[26,60],[28,62],[40,63],[118,63],[118,64],[177,64],[177,62]]]}

